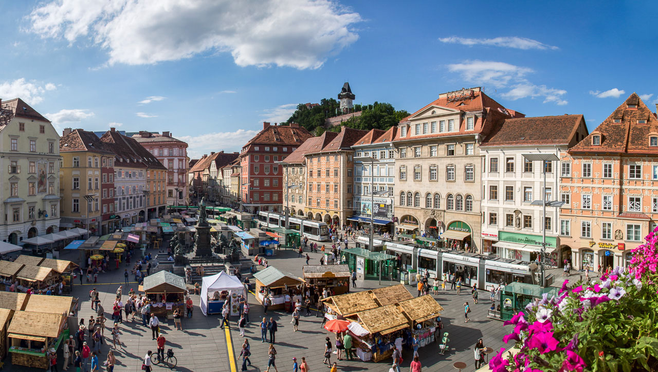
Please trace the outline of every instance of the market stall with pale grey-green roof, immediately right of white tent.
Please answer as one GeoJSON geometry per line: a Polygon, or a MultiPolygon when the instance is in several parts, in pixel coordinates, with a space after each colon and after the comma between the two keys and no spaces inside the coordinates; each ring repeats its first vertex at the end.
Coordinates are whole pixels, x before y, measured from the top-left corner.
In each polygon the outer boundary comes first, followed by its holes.
{"type": "Polygon", "coordinates": [[[256,279],[256,298],[258,302],[263,304],[263,299],[268,296],[270,298],[270,309],[289,307],[290,289],[301,286],[303,283],[303,280],[299,277],[281,271],[274,266],[266,267],[255,273],[253,277],[256,279]]]}

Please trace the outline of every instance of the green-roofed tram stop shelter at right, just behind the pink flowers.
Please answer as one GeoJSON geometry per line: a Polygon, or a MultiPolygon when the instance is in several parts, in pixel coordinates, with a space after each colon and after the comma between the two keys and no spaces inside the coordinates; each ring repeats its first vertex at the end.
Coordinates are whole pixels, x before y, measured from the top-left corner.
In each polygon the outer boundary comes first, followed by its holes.
{"type": "Polygon", "coordinates": [[[512,319],[513,315],[525,309],[526,305],[542,298],[558,296],[556,287],[541,287],[535,284],[512,282],[505,285],[500,294],[500,304],[495,310],[489,310],[488,317],[499,320],[512,319]]]}

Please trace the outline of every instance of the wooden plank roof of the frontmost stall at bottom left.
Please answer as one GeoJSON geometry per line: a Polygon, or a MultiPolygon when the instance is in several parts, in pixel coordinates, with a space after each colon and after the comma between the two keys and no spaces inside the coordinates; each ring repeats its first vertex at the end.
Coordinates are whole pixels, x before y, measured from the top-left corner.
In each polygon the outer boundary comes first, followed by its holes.
{"type": "Polygon", "coordinates": [[[58,337],[59,329],[65,319],[62,314],[15,312],[7,329],[7,337],[34,337],[38,338],[37,340],[58,337]]]}

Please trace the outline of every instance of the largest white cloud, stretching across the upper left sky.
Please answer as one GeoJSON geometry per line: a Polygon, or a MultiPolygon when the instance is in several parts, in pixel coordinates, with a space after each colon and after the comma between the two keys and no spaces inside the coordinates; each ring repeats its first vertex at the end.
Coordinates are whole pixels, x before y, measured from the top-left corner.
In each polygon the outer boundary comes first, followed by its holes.
{"type": "Polygon", "coordinates": [[[28,16],[41,37],[91,39],[108,63],[231,53],[239,66],[319,68],[359,38],[361,16],[331,0],[50,0],[28,16]]]}

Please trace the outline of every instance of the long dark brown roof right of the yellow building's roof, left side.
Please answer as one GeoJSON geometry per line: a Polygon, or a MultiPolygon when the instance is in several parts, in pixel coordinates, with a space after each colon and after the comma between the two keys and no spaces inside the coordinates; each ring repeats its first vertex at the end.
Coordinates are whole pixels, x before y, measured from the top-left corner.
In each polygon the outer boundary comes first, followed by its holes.
{"type": "Polygon", "coordinates": [[[116,166],[132,168],[153,168],[166,170],[166,167],[151,152],[144,149],[132,137],[126,137],[118,131],[105,132],[101,141],[114,151],[116,166]]]}

